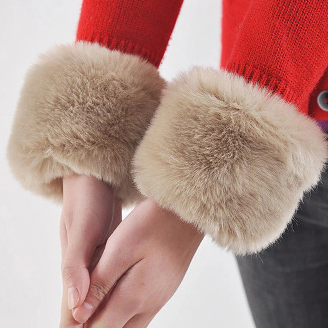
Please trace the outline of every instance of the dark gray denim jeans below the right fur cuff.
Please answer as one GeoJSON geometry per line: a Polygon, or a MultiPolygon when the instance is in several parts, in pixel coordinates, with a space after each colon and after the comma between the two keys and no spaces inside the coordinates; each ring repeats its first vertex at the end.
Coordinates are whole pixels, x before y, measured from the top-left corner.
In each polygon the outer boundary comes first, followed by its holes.
{"type": "Polygon", "coordinates": [[[236,259],[257,328],[328,328],[328,169],[279,241],[236,259]]]}

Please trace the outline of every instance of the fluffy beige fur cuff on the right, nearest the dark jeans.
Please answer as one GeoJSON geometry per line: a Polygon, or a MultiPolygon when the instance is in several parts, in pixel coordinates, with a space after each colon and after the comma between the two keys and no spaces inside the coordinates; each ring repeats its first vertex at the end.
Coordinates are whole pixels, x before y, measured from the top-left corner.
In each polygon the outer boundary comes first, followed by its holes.
{"type": "Polygon", "coordinates": [[[325,135],[278,95],[211,68],[163,93],[133,159],[145,196],[236,254],[274,242],[319,180],[325,135]]]}

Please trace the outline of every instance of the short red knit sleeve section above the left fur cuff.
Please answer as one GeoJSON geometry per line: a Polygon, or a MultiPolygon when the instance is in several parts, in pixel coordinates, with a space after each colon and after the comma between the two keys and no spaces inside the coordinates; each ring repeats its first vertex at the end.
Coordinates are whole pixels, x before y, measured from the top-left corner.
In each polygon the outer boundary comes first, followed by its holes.
{"type": "Polygon", "coordinates": [[[183,0],[84,0],[77,41],[138,54],[157,68],[183,0]]]}

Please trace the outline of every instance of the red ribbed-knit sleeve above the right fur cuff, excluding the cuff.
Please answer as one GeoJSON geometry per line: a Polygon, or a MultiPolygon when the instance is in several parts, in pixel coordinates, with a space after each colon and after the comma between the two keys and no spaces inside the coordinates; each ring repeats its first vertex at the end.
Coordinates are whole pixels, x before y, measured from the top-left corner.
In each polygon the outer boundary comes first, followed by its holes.
{"type": "Polygon", "coordinates": [[[300,107],[327,67],[327,8],[325,0],[253,0],[224,68],[300,107]]]}

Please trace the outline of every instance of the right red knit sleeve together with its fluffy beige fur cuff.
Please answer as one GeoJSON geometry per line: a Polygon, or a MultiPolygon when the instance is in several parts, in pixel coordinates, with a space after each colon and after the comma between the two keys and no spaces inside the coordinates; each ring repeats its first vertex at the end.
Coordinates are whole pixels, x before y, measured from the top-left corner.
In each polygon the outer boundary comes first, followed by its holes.
{"type": "Polygon", "coordinates": [[[168,83],[133,174],[144,196],[248,254],[281,236],[327,160],[325,134],[299,106],[327,66],[327,5],[223,1],[223,69],[168,83]]]}

